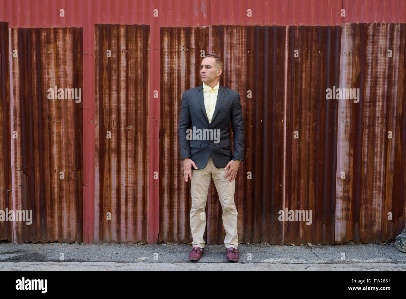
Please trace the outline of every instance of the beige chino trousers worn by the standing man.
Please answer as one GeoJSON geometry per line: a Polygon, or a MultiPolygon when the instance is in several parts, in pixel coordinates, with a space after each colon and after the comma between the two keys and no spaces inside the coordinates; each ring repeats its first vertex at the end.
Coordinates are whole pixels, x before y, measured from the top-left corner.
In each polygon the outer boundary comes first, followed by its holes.
{"type": "Polygon", "coordinates": [[[228,182],[229,176],[227,179],[224,179],[228,171],[229,168],[227,170],[224,168],[216,168],[211,156],[204,169],[193,169],[192,167],[190,229],[192,231],[193,247],[204,248],[205,245],[205,241],[203,240],[203,234],[206,229],[205,208],[211,176],[213,177],[223,210],[222,219],[226,232],[224,245],[226,248],[234,247],[237,249],[238,247],[238,213],[234,204],[235,179],[232,182],[228,182]]]}

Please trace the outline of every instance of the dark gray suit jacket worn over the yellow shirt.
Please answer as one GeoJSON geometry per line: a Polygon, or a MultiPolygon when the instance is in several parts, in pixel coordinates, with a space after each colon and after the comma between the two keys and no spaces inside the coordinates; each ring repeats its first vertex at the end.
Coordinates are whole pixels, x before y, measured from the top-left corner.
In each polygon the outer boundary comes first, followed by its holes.
{"type": "Polygon", "coordinates": [[[209,124],[204,106],[203,85],[185,91],[182,95],[179,116],[179,147],[181,160],[191,158],[198,169],[206,167],[209,156],[212,156],[217,168],[226,167],[231,159],[244,160],[244,123],[240,93],[220,85],[216,108],[212,122],[209,124]],[[230,121],[234,139],[234,154],[231,152],[230,121]],[[191,126],[192,130],[220,129],[220,143],[213,140],[197,140],[192,136],[189,144],[186,130],[191,126]]]}

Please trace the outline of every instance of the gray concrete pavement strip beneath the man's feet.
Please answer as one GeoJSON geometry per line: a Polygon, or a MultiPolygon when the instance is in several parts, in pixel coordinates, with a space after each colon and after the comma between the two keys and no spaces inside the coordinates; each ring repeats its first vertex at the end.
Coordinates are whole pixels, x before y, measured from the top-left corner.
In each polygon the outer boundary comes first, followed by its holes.
{"type": "Polygon", "coordinates": [[[188,244],[69,244],[0,242],[0,271],[237,270],[406,271],[406,253],[381,243],[345,245],[240,244],[238,263],[227,262],[224,245],[205,245],[191,263],[188,244]]]}

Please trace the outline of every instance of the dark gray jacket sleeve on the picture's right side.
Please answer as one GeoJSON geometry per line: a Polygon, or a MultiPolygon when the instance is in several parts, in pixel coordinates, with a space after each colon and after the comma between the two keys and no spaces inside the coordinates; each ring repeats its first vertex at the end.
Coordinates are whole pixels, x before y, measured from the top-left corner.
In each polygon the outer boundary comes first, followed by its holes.
{"type": "Polygon", "coordinates": [[[231,130],[233,130],[234,139],[233,160],[244,160],[244,121],[242,119],[240,93],[235,96],[231,110],[231,130]]]}

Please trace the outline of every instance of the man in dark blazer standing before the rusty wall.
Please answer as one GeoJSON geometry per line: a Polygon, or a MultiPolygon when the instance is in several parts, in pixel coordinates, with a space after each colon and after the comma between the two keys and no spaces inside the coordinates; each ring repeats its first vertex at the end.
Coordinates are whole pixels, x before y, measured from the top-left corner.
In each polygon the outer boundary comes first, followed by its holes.
{"type": "Polygon", "coordinates": [[[205,246],[205,207],[211,176],[223,210],[227,260],[237,262],[239,259],[234,179],[244,159],[244,124],[240,94],[218,82],[223,68],[224,64],[218,56],[206,55],[200,65],[203,85],[185,91],[181,100],[180,155],[184,162],[185,182],[190,178],[192,197],[190,229],[193,249],[189,255],[191,261],[200,259],[205,246]],[[230,121],[234,154],[231,152],[229,136],[230,121]],[[196,135],[199,131],[207,133],[207,136],[204,133],[203,136],[199,133],[196,135]]]}

